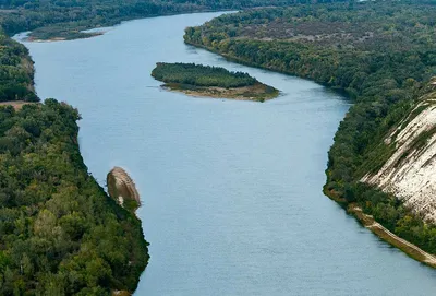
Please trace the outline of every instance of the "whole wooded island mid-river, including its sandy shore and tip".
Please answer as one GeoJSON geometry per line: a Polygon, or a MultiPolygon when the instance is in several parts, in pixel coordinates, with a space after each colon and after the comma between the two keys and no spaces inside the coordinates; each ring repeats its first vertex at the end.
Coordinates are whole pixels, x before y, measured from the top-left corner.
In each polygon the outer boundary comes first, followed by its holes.
{"type": "Polygon", "coordinates": [[[162,87],[192,96],[265,102],[279,95],[272,86],[243,72],[195,63],[158,62],[152,72],[162,87]]]}

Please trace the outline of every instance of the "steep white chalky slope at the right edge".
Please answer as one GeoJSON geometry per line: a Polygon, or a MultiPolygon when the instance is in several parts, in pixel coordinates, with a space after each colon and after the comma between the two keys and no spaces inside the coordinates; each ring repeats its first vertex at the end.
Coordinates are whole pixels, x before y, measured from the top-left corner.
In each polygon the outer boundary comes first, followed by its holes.
{"type": "Polygon", "coordinates": [[[436,79],[429,92],[385,139],[395,152],[361,181],[393,193],[427,222],[436,222],[436,79]]]}

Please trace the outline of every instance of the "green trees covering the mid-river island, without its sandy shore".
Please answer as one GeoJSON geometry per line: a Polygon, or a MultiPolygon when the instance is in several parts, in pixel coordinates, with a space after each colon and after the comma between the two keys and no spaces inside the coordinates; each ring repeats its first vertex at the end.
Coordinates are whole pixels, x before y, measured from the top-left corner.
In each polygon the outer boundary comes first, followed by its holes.
{"type": "Polygon", "coordinates": [[[243,72],[230,72],[225,68],[195,63],[158,62],[152,75],[165,83],[194,86],[242,87],[254,85],[257,80],[243,72]]]}

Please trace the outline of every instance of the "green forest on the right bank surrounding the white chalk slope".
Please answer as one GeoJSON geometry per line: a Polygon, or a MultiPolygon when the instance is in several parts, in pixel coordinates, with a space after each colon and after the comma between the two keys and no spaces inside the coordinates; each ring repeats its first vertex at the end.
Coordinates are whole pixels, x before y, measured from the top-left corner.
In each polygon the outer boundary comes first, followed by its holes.
{"type": "Polygon", "coordinates": [[[400,200],[360,183],[392,154],[380,145],[436,75],[436,5],[365,1],[222,15],[186,29],[185,42],[242,63],[302,78],[348,94],[354,105],[328,154],[325,192],[359,202],[388,229],[436,253],[436,227],[400,200]]]}

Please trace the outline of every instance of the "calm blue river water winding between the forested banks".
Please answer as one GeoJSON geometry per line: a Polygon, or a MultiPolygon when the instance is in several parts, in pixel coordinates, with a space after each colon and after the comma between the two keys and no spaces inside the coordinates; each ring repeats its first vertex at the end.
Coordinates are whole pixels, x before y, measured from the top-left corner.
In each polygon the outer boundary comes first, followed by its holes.
{"type": "Polygon", "coordinates": [[[136,295],[434,295],[436,271],[391,248],[322,192],[348,102],[313,82],[183,44],[220,13],[137,20],[102,36],[25,43],[36,90],[77,107],[85,163],[101,186],[128,169],[152,259],[136,295]],[[156,62],[245,71],[267,103],[159,88],[156,62]]]}

